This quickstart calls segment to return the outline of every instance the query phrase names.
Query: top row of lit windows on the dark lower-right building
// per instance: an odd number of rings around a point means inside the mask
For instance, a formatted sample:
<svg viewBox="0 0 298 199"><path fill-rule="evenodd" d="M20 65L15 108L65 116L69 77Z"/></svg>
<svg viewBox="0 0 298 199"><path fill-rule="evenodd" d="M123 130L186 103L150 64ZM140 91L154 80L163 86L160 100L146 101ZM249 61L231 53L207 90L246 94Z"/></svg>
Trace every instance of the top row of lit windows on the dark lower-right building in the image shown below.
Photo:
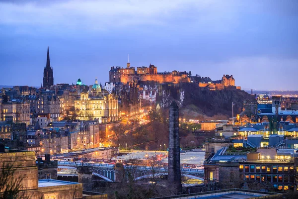
<svg viewBox="0 0 298 199"><path fill-rule="evenodd" d="M294 167L282 165L239 165L239 171L250 173L288 173L289 171L294 171Z"/></svg>

